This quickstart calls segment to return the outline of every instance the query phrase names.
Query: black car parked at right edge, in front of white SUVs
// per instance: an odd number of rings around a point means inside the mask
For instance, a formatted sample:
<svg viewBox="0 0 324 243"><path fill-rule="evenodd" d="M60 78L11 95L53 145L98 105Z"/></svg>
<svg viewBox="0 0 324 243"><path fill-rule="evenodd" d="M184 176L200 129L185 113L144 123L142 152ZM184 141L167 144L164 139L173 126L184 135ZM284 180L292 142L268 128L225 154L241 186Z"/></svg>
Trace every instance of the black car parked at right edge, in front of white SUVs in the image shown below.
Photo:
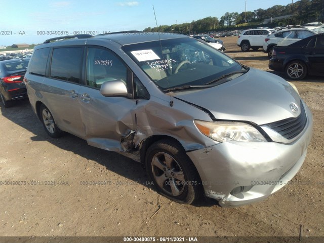
<svg viewBox="0 0 324 243"><path fill-rule="evenodd" d="M307 74L324 74L324 34L309 36L286 47L274 47L269 68L285 72L294 80Z"/></svg>

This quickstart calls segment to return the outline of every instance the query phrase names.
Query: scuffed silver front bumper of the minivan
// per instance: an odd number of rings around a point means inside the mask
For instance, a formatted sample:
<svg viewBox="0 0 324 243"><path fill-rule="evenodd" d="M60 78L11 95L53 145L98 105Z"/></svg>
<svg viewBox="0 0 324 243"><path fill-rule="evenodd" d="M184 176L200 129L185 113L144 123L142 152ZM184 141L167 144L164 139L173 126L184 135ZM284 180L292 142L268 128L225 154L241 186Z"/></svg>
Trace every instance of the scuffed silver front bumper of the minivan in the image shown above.
<svg viewBox="0 0 324 243"><path fill-rule="evenodd" d="M236 207L265 199L285 186L301 168L311 140L312 114L308 107L305 111L302 135L290 144L223 142L187 152L205 195L222 207Z"/></svg>

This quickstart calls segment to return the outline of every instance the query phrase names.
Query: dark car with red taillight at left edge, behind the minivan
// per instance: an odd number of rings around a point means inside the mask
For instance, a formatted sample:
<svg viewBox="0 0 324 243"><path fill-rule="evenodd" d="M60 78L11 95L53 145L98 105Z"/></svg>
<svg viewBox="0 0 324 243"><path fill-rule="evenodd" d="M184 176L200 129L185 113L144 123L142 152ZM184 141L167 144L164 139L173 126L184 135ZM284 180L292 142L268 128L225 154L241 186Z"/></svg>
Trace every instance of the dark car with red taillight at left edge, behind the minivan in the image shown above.
<svg viewBox="0 0 324 243"><path fill-rule="evenodd" d="M0 97L5 107L27 97L23 78L30 58L0 61Z"/></svg>

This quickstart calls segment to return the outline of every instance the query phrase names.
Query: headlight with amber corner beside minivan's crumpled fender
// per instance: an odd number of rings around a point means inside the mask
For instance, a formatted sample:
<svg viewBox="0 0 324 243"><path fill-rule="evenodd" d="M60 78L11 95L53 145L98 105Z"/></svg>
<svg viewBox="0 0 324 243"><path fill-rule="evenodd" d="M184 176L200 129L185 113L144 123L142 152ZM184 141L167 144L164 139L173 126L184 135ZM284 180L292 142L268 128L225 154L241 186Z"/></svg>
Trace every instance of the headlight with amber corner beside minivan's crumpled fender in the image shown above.
<svg viewBox="0 0 324 243"><path fill-rule="evenodd" d="M218 142L266 142L267 140L254 127L236 121L194 120L198 130Z"/></svg>

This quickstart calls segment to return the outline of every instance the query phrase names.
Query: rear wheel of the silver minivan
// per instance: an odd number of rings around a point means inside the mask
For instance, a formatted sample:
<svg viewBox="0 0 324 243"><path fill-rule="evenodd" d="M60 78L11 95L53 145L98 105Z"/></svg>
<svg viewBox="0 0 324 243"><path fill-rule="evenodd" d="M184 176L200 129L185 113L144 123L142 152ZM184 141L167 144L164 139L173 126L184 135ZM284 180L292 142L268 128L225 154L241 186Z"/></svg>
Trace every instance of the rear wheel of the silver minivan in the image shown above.
<svg viewBox="0 0 324 243"><path fill-rule="evenodd" d="M39 118L50 137L59 138L62 136L62 131L56 126L52 113L45 105L39 107Z"/></svg>

